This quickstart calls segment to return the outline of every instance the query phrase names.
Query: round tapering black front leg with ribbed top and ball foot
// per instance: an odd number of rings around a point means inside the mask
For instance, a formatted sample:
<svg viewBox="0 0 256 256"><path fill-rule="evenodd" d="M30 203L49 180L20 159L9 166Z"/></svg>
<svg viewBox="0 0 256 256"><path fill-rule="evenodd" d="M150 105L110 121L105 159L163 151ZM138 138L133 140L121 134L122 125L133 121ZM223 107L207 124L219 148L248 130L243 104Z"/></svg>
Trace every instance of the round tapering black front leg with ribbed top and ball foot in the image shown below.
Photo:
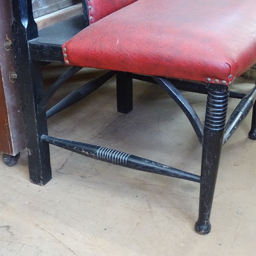
<svg viewBox="0 0 256 256"><path fill-rule="evenodd" d="M228 87L209 84L202 148L199 214L195 230L199 234L211 231L210 214L219 169L226 123Z"/></svg>

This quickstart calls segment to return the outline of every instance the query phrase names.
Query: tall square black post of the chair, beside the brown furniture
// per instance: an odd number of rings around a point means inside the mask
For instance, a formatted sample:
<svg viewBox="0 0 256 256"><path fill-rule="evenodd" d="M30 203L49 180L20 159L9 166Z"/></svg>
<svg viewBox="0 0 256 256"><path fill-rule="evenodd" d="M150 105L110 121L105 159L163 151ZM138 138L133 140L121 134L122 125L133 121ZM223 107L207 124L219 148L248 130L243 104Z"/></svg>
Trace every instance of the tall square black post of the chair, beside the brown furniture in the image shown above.
<svg viewBox="0 0 256 256"><path fill-rule="evenodd" d="M49 144L41 141L47 134L46 112L38 111L43 95L40 63L29 58L27 41L37 37L31 1L13 1L13 38L18 87L23 114L29 176L32 183L44 185L51 179Z"/></svg>

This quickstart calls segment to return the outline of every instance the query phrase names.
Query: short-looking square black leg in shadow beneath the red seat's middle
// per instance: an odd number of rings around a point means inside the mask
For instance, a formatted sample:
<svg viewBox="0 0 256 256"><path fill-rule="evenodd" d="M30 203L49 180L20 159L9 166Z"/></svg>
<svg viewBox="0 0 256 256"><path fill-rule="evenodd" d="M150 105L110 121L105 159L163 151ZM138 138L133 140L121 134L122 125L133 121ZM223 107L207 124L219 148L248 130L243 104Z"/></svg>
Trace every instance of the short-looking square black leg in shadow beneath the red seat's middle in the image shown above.
<svg viewBox="0 0 256 256"><path fill-rule="evenodd" d="M127 72L116 73L117 111L128 114L132 111L132 78Z"/></svg>

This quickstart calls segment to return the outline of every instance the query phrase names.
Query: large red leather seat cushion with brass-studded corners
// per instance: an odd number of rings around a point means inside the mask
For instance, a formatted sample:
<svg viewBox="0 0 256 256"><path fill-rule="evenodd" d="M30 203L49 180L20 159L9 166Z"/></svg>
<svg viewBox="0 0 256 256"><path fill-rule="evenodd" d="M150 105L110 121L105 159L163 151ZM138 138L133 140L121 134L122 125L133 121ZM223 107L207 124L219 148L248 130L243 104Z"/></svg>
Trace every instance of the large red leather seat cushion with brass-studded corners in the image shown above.
<svg viewBox="0 0 256 256"><path fill-rule="evenodd" d="M256 62L255 10L255 0L138 0L82 30L63 54L69 65L228 83Z"/></svg>

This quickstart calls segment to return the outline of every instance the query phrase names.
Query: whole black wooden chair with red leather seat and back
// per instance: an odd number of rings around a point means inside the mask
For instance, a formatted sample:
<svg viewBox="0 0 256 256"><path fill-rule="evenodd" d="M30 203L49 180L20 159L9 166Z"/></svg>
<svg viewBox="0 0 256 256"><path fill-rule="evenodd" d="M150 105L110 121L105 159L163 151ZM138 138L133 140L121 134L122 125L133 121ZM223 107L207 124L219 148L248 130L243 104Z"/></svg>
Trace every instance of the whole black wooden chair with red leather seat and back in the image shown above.
<svg viewBox="0 0 256 256"><path fill-rule="evenodd" d="M45 185L52 178L49 143L111 164L198 182L195 230L209 233L222 145L247 116L256 97L256 87L247 95L229 90L236 76L256 62L256 2L82 3L84 15L38 32L31 0L13 0L13 36L31 182ZM73 66L46 93L41 77L45 62ZM51 96L82 67L110 71L84 84L46 113ZM158 84L180 106L202 145L200 176L118 150L48 136L47 118L86 97L114 74L119 112L132 110L133 79ZM208 94L204 125L180 90ZM226 123L229 97L241 101ZM249 138L256 139L255 104Z"/></svg>

